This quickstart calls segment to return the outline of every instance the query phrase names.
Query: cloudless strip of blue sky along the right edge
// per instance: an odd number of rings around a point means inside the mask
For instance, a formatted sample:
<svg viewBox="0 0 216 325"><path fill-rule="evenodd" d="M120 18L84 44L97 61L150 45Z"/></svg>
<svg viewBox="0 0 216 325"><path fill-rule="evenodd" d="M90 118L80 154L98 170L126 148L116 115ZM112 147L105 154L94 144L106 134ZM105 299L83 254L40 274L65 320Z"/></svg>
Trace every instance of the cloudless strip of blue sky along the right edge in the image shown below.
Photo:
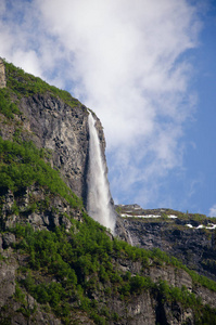
<svg viewBox="0 0 216 325"><path fill-rule="evenodd" d="M211 3L211 10L203 17L200 46L193 58L196 74L192 87L198 93L198 103L195 120L187 136L195 145L187 151L185 166L188 166L187 174L198 180L189 200L192 210L216 216L216 2Z"/></svg>

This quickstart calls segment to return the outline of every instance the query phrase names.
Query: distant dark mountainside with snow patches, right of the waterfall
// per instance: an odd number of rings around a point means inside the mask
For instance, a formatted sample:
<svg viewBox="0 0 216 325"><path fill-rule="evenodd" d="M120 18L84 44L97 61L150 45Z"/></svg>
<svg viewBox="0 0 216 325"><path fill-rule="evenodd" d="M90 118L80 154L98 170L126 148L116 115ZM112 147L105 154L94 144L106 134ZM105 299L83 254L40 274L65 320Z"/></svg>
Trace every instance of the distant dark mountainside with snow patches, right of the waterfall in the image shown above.
<svg viewBox="0 0 216 325"><path fill-rule="evenodd" d="M144 210L138 205L116 209L132 245L160 248L216 281L216 218L170 209Z"/></svg>

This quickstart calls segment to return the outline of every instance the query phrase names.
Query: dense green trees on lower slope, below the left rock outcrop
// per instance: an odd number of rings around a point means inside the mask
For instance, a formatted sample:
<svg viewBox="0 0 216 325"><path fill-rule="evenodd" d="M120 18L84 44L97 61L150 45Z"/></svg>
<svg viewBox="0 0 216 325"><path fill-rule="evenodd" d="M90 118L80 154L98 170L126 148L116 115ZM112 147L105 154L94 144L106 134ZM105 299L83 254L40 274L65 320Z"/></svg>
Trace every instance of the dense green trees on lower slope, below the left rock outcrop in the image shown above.
<svg viewBox="0 0 216 325"><path fill-rule="evenodd" d="M96 324L105 324L104 309L96 313L97 301L89 296L97 289L99 280L104 285L110 278L114 280L111 263L113 245L101 225L88 216L84 218L82 223L72 219L74 226L69 233L60 227L55 232L34 232L30 225L20 224L12 230L18 239L14 248L29 256L26 268L20 270L25 274L20 285L39 303L49 303L65 323L69 322L72 310L78 308L88 312ZM16 296L21 296L18 290Z"/></svg>

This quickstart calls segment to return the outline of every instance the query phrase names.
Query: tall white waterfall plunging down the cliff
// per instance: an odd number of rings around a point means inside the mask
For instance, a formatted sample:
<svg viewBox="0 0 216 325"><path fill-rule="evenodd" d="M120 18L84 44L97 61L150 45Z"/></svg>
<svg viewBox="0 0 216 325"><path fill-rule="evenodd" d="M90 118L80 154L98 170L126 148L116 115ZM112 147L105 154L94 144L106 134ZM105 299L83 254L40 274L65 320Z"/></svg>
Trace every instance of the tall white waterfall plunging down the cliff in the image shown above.
<svg viewBox="0 0 216 325"><path fill-rule="evenodd" d="M96 120L91 113L89 125L89 170L87 211L96 221L114 233L115 212L111 205L111 194L106 178L106 166L102 157L100 140L96 129Z"/></svg>

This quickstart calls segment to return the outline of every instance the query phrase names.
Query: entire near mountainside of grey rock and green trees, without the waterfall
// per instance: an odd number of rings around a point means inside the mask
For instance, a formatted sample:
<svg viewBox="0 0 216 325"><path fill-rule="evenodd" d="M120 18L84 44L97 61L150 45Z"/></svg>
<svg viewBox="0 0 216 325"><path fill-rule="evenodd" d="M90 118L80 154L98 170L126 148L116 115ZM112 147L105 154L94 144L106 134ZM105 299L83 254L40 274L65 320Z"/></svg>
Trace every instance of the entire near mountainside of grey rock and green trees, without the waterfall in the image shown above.
<svg viewBox="0 0 216 325"><path fill-rule="evenodd" d="M0 324L216 324L214 281L87 216L87 108L7 62L0 88Z"/></svg>

